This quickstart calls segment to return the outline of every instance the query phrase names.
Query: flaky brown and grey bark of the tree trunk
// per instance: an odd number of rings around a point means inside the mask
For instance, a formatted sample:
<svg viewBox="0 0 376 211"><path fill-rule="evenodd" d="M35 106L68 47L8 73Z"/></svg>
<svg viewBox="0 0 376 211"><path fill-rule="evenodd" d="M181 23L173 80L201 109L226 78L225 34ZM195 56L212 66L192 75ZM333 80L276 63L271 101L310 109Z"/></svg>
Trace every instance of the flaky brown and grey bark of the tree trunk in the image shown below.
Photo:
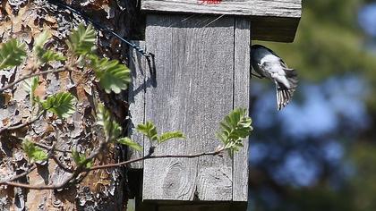
<svg viewBox="0 0 376 211"><path fill-rule="evenodd" d="M140 38L141 30L137 15L137 1L67 1L75 8L81 8L92 19L113 29L123 38ZM79 23L80 16L56 7L45 0L9 0L0 3L0 42L18 38L32 48L34 39L42 30L50 30L57 51L64 52L64 40ZM140 27L137 27L140 28ZM130 35L133 36L130 36ZM98 33L98 53L126 63L128 48L106 32ZM62 63L52 65L61 66ZM27 72L28 63L12 70L0 71L0 87L14 81ZM0 181L12 178L25 171L27 157L21 150L19 138L28 137L46 145L71 151L77 148L81 153L90 152L100 139L103 131L95 124L94 102L99 100L107 105L123 128L126 128L127 103L124 95L106 95L97 89L95 82L84 80L68 72L47 74L39 77L36 95L45 97L57 91L69 91L78 98L75 114L62 122L51 115L44 115L29 128L3 134L0 139ZM0 127L25 122L30 116L29 96L22 89L22 83L0 94ZM124 130L125 132L126 130ZM58 153L58 159L71 165L70 155ZM123 160L122 148L108 148L97 164L115 163ZM52 160L39 164L38 169L19 180L30 184L59 183L69 173L64 172ZM127 188L124 169L98 170L75 187L63 190L26 190L0 187L0 210L123 210Z"/></svg>

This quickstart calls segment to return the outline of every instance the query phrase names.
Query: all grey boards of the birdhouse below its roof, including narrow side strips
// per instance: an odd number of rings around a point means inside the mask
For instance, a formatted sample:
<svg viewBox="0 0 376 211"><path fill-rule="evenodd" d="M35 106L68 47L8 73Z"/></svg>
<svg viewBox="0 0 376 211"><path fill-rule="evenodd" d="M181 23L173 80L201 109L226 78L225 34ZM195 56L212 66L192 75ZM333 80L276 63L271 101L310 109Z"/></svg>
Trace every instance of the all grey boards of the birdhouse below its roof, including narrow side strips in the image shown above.
<svg viewBox="0 0 376 211"><path fill-rule="evenodd" d="M140 115L140 121L154 122L159 132L183 131L186 136L185 140L158 145L154 156L216 150L223 145L216 138L219 122L235 107L249 106L250 21L235 16L220 21L214 16L190 16L148 15L145 47L155 55L155 70L150 72L144 65L135 64L137 57L131 60L131 67L137 72L131 88L136 95L132 98L132 115ZM144 78L137 80L141 76ZM137 119L132 121L138 123ZM142 142L147 155L150 142L140 139ZM152 203L244 204L248 190L247 157L248 141L244 140L244 148L234 157L224 153L145 160L142 199Z"/></svg>

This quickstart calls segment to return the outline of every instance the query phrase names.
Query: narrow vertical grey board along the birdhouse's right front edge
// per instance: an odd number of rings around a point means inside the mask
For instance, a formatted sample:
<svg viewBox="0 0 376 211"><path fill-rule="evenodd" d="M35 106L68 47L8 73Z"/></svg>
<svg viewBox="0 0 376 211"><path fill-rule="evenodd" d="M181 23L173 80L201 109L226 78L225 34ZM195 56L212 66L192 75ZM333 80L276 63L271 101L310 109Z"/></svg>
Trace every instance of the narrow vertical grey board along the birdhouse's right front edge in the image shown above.
<svg viewBox="0 0 376 211"><path fill-rule="evenodd" d="M242 17L235 20L235 90L234 107L249 107L251 23ZM234 156L233 200L248 200L248 139Z"/></svg>

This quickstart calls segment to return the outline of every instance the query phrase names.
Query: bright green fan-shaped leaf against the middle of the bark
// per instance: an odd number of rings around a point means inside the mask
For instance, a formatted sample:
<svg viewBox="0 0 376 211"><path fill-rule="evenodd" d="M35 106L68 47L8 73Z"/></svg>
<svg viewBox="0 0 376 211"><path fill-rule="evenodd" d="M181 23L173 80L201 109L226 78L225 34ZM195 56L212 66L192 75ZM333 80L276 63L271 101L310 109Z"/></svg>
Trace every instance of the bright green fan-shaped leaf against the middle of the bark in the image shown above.
<svg viewBox="0 0 376 211"><path fill-rule="evenodd" d="M42 106L47 111L56 114L59 118L67 118L74 114L76 102L76 97L71 93L59 92L53 96L47 97L47 99L42 102Z"/></svg>

